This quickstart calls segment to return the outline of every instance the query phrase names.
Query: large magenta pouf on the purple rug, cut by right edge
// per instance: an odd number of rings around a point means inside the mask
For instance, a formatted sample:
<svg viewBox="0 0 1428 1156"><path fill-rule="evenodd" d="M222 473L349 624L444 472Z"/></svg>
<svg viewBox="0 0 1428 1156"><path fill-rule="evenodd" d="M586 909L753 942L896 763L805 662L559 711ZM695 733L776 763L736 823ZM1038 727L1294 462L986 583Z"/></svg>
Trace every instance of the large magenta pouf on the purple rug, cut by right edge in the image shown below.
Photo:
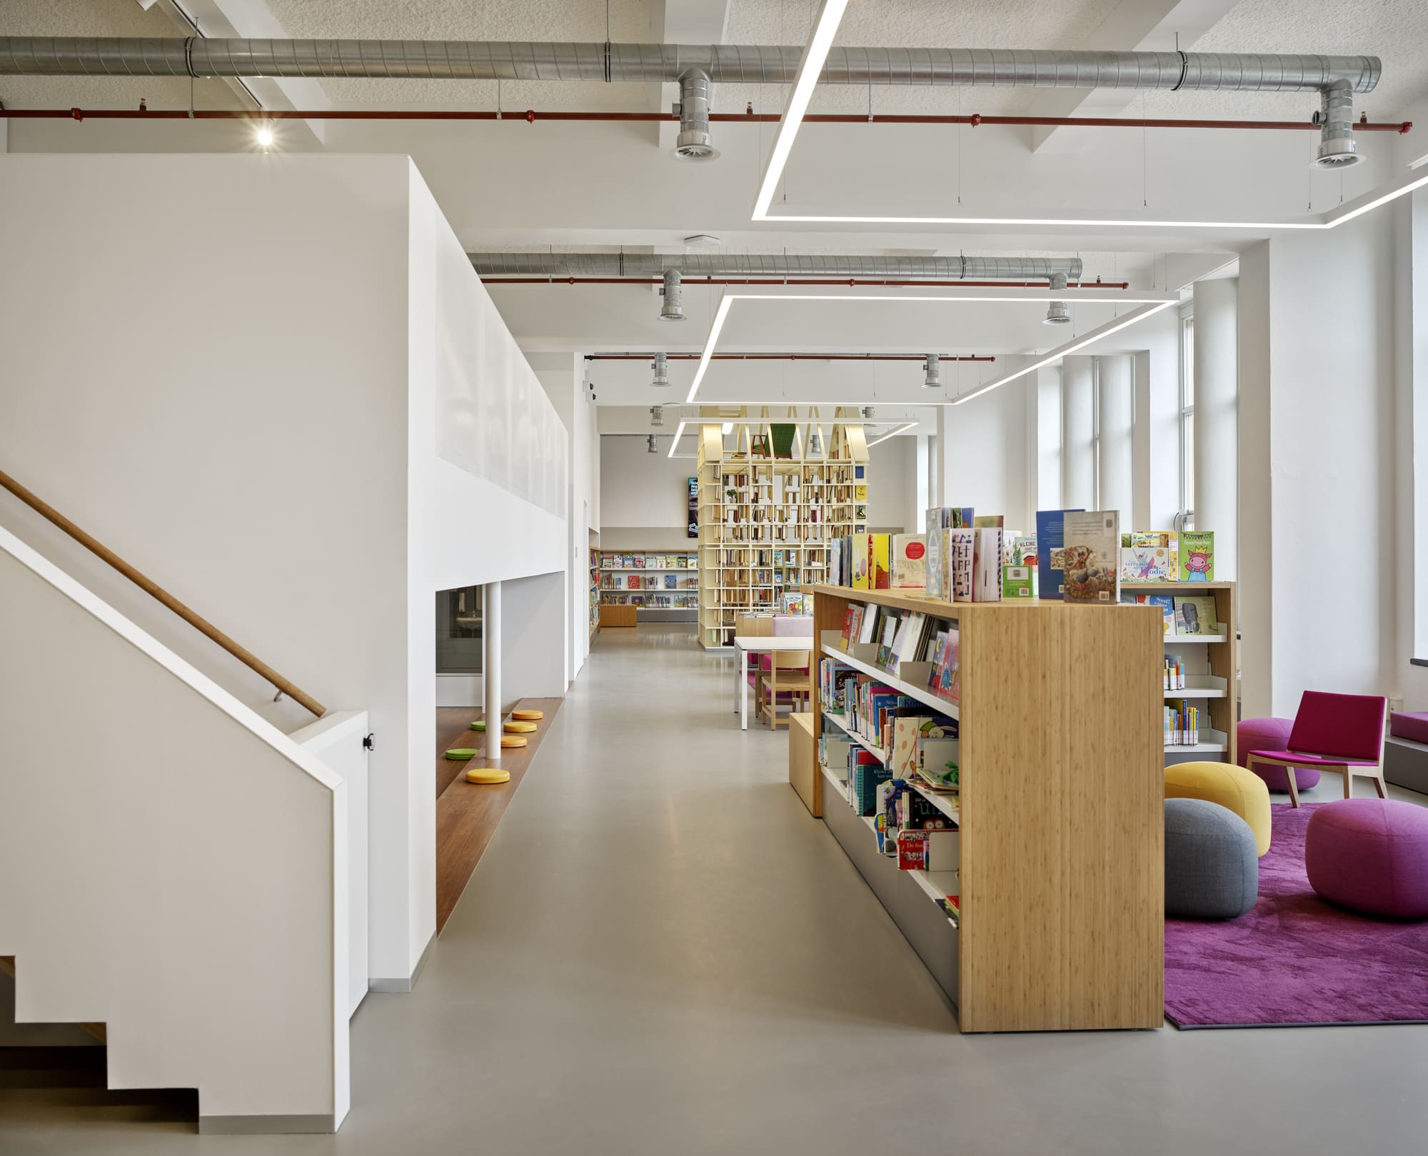
<svg viewBox="0 0 1428 1156"><path fill-rule="evenodd" d="M1309 886L1341 908L1389 919L1428 918L1428 808L1341 799L1304 833Z"/></svg>

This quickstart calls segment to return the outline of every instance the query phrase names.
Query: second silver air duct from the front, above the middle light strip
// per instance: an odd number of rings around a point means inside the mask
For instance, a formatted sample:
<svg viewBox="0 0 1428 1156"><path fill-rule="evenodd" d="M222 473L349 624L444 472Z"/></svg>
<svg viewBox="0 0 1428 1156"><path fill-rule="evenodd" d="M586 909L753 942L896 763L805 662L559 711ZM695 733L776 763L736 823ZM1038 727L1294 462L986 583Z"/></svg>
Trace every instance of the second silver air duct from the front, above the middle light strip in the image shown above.
<svg viewBox="0 0 1428 1156"><path fill-rule="evenodd" d="M881 277L895 281L1081 280L1080 257L840 257L743 253L473 253L483 277Z"/></svg>

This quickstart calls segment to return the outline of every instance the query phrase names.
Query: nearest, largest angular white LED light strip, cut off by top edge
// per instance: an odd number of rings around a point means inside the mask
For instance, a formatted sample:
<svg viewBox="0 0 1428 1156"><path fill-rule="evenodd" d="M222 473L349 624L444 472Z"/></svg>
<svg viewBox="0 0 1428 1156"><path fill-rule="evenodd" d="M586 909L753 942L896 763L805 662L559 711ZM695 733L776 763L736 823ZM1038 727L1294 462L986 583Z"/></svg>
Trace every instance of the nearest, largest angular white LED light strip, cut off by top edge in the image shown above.
<svg viewBox="0 0 1428 1156"><path fill-rule="evenodd" d="M1075 225L1075 227L1108 227L1108 228L1334 228L1337 225L1372 213L1379 206L1388 204L1405 193L1428 184L1428 177L1409 180L1389 188L1375 197L1372 191L1338 206L1331 213L1319 214L1318 220L1307 221L1135 221L1135 220L1097 220L1082 217L838 217L838 216L770 216L768 207L774 201L774 190L783 180L784 166L788 164L788 154L793 151L794 138L803 127L804 114L808 111L808 101L818 84L818 74L828 60L828 50L833 47L833 37L843 21L843 13L848 7L848 0L824 0L823 9L814 21L813 36L804 49L803 60L798 63L798 76L794 87L788 93L788 104L784 116L778 121L778 136L774 140L774 150L768 154L768 166L764 168L764 183L758 188L754 200L755 221L800 221L807 224L967 224L967 225ZM1424 163L1419 158L1414 168Z"/></svg>

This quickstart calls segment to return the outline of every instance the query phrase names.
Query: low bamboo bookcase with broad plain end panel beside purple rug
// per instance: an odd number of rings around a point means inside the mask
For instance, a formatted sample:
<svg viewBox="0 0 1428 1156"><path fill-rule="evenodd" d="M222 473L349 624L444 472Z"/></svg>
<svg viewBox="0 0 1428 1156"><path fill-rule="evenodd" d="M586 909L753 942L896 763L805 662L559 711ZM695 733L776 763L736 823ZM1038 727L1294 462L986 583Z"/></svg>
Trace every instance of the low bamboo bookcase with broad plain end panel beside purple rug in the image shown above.
<svg viewBox="0 0 1428 1156"><path fill-rule="evenodd" d="M957 1005L964 1032L1160 1028L1164 1023L1161 612L1057 601L942 602L908 591L815 585L820 656L875 675L957 719L958 918L940 872L898 871L818 764L790 779L858 865ZM850 602L955 622L960 694L927 689L925 664L888 676L841 649ZM911 664L908 664L911 665ZM830 716L828 726L837 726ZM803 748L807 751L807 745ZM805 755L807 758L807 755Z"/></svg>

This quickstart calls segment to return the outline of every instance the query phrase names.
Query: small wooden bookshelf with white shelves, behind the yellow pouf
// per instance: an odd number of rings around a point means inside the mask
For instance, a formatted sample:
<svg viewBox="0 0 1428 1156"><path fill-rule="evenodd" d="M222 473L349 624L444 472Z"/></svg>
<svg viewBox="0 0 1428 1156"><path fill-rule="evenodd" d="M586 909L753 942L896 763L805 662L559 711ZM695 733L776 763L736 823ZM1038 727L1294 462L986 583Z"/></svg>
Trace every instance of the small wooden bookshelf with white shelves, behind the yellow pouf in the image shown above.
<svg viewBox="0 0 1428 1156"><path fill-rule="evenodd" d="M1215 599L1218 634L1162 635L1164 654L1185 665L1185 689L1162 691L1164 698L1204 699L1208 726L1195 746L1161 744L1165 762L1238 762L1235 724L1240 706L1240 618L1234 582L1121 582L1122 594L1168 594ZM1160 665L1157 662L1157 665ZM1161 701L1164 704L1164 699Z"/></svg>

